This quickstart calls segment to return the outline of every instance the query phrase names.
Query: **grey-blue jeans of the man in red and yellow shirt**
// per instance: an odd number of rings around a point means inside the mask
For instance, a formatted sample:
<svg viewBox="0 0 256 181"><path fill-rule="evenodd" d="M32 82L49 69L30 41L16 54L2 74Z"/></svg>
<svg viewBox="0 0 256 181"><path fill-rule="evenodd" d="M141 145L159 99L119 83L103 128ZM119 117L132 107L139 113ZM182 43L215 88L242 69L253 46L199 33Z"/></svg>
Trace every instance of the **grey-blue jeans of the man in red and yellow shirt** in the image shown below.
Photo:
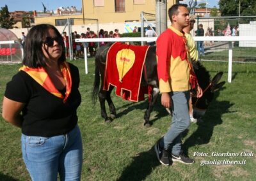
<svg viewBox="0 0 256 181"><path fill-rule="evenodd" d="M179 156L182 132L189 127L189 91L170 92L172 97L172 124L162 139L164 149L172 147L172 154Z"/></svg>

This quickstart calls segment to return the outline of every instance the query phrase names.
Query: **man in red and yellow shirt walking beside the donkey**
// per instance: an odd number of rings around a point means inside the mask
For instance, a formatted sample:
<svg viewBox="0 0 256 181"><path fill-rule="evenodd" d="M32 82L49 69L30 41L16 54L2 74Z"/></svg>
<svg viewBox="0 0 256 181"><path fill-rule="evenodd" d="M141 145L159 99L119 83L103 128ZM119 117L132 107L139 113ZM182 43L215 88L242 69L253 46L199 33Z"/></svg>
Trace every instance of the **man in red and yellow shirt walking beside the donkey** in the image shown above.
<svg viewBox="0 0 256 181"><path fill-rule="evenodd" d="M161 103L166 108L172 105L173 117L172 126L163 138L157 141L155 150L161 164L170 165L171 160L191 164L194 163L193 159L180 154L181 133L189 127L190 121L188 101L191 65L187 55L186 37L182 31L189 25L189 11L185 4L174 4L168 10L168 15L172 26L157 38L156 54ZM196 89L196 96L199 98L202 96L202 89L199 85Z"/></svg>

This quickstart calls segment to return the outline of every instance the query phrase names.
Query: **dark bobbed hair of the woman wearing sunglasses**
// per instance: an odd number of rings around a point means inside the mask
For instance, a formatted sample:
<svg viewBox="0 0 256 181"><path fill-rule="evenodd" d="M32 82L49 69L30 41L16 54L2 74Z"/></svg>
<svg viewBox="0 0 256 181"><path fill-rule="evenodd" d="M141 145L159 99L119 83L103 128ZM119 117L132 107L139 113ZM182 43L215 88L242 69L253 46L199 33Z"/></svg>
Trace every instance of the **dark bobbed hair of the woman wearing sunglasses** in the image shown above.
<svg viewBox="0 0 256 181"><path fill-rule="evenodd" d="M46 59L44 57L44 53L42 51L42 45L46 38L46 34L48 29L53 29L56 35L62 38L60 32L56 27L50 24L38 24L32 27L25 39L25 47L24 47L24 59L22 63L29 68L38 68L46 66ZM62 54L59 59L60 62L66 60L65 57L65 45L64 41L60 43L62 47Z"/></svg>

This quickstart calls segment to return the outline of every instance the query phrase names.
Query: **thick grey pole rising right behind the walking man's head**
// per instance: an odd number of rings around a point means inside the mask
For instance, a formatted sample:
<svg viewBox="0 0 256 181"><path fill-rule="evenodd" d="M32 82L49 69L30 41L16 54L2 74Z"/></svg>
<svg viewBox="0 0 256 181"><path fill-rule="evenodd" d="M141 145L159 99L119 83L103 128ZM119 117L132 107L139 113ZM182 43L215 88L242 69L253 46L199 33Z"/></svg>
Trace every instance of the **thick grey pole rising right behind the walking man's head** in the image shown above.
<svg viewBox="0 0 256 181"><path fill-rule="evenodd" d="M167 28L167 0L156 0L156 33L161 34Z"/></svg>

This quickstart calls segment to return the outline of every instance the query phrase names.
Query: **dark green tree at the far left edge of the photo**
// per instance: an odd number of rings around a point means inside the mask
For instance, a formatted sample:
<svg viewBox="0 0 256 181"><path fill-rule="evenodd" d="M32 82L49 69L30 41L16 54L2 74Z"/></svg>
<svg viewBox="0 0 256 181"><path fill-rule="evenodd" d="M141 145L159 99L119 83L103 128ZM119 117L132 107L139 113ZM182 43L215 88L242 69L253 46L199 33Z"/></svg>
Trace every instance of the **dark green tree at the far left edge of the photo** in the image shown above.
<svg viewBox="0 0 256 181"><path fill-rule="evenodd" d="M1 7L0 10L0 25L3 28L6 29L12 29L13 25L15 24L12 17L10 17L10 13L8 11L8 6L5 5L4 7Z"/></svg>

